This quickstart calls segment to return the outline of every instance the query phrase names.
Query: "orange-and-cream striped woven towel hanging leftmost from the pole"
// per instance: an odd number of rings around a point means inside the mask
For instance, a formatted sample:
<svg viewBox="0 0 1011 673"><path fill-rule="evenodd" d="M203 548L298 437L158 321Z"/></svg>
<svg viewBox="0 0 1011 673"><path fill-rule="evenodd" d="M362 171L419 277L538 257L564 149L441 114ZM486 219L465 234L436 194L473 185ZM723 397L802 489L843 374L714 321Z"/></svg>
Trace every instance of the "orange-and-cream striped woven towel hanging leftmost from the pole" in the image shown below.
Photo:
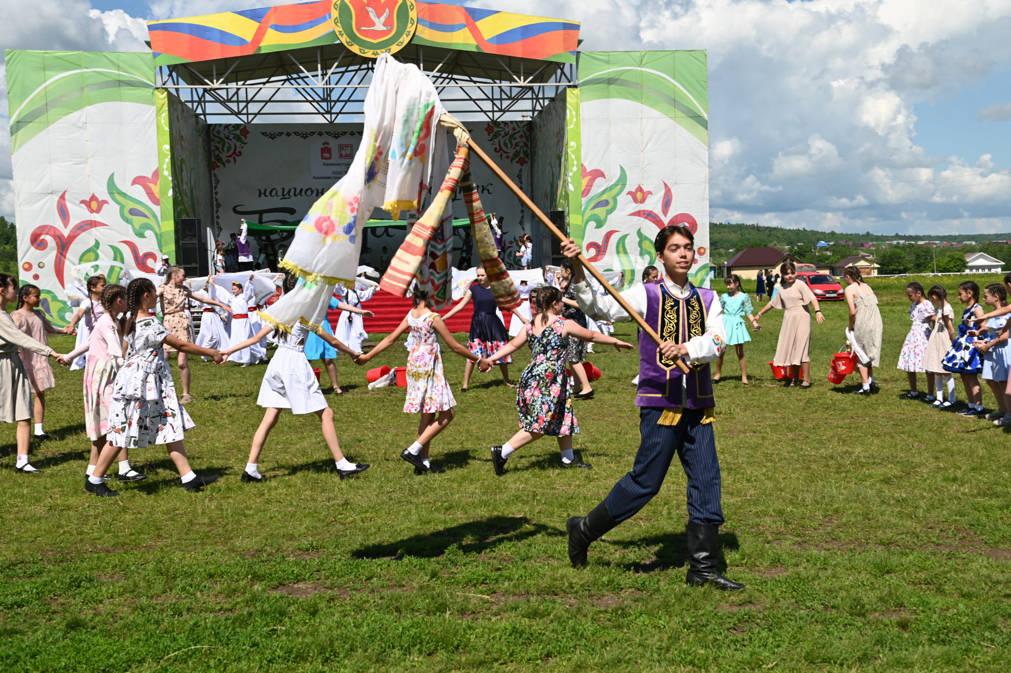
<svg viewBox="0 0 1011 673"><path fill-rule="evenodd" d="M465 145L457 149L442 187L421 219L407 232L379 281L379 287L386 292L398 297L406 296L407 288L417 276L419 286L433 298L432 308L446 306L451 284L448 253L453 242L453 212L447 206L460 187L460 177L470 168L469 154L470 150ZM426 264L427 258L433 257L432 263ZM438 305L440 296L442 301Z"/></svg>

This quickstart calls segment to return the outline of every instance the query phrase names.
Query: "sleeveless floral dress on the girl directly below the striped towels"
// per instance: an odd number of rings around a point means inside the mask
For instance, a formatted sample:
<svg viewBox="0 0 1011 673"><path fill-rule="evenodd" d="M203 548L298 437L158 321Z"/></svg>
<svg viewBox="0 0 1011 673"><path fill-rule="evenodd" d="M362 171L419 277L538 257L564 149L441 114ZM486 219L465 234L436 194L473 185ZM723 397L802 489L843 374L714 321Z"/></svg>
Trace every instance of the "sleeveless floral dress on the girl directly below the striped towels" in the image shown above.
<svg viewBox="0 0 1011 673"><path fill-rule="evenodd" d="M453 392L443 374L439 334L432 328L438 317L429 313L416 318L407 313L410 325L410 354L407 356L407 399L404 413L435 413L456 406Z"/></svg>

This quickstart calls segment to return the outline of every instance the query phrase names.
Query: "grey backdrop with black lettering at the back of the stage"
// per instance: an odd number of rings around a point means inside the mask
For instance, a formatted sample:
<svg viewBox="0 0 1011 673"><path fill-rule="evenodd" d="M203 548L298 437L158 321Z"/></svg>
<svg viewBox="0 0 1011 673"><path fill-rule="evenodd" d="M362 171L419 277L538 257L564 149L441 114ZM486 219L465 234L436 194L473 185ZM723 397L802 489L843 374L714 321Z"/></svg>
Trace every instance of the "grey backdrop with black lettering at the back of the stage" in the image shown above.
<svg viewBox="0 0 1011 673"><path fill-rule="evenodd" d="M468 129L518 185L529 186L530 125L486 121L471 122ZM301 219L348 172L362 140L361 124L210 124L209 130L214 211L222 242L239 231L243 217L262 224ZM504 219L502 261L511 269L519 268L517 239L534 226L530 213L482 163L474 162L471 173L485 211ZM466 217L459 193L452 207L454 217ZM369 230L370 250L363 249L362 263L378 268L382 249L392 258L404 233ZM475 248L475 262L476 252ZM470 261L464 264L470 266Z"/></svg>

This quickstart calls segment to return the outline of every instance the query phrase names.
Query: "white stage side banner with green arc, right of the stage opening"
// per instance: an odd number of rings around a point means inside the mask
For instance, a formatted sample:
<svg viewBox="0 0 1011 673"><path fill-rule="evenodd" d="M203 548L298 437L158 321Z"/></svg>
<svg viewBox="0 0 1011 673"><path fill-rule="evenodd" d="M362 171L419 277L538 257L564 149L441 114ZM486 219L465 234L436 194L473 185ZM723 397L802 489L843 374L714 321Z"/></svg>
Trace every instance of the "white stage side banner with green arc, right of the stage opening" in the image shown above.
<svg viewBox="0 0 1011 673"><path fill-rule="evenodd" d="M669 224L695 232L692 282L709 276L706 52L583 52L581 211L569 230L602 270L638 281Z"/></svg>

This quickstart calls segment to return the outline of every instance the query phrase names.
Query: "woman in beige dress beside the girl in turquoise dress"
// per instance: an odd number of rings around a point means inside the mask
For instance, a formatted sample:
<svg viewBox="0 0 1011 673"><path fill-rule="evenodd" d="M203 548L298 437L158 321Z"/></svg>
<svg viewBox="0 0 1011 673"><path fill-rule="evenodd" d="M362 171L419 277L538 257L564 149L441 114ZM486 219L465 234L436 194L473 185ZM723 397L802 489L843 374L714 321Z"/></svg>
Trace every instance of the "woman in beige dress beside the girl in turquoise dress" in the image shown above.
<svg viewBox="0 0 1011 673"><path fill-rule="evenodd" d="M811 387L811 358L808 350L811 347L811 312L808 304L815 307L815 315L818 324L825 321L821 308L818 307L818 298L815 297L807 283L797 280L797 267L792 262L784 262L779 266L779 291L775 298L762 306L755 315L757 323L763 313L772 308L784 309L783 326L779 328L779 342L775 347L775 357L772 364L776 367L800 366L801 376L804 382L801 388ZM786 386L795 385L795 382L788 376Z"/></svg>

